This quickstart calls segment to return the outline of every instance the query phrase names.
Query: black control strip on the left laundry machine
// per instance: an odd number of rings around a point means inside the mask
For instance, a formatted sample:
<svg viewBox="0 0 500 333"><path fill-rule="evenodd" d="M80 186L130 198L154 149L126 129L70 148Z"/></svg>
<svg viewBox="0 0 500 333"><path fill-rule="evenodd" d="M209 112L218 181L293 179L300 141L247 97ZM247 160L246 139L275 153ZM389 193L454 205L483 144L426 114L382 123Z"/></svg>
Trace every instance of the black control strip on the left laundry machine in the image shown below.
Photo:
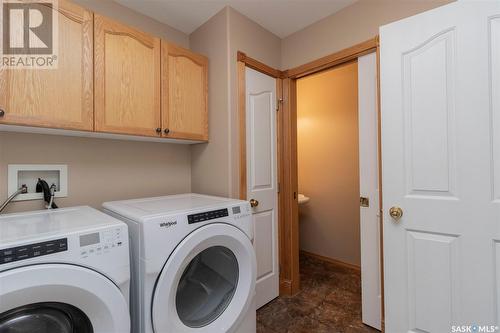
<svg viewBox="0 0 500 333"><path fill-rule="evenodd" d="M67 238L11 247L0 250L0 265L64 251L68 251Z"/></svg>

